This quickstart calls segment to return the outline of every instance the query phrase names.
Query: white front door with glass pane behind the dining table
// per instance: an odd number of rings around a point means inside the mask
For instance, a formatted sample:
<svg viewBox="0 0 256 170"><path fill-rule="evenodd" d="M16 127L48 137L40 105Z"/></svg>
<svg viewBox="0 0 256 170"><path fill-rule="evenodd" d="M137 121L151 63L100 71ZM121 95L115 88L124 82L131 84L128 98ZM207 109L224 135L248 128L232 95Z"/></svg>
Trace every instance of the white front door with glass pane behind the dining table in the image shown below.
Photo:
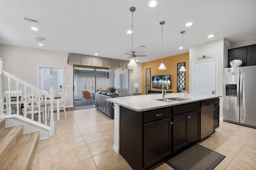
<svg viewBox="0 0 256 170"><path fill-rule="evenodd" d="M48 93L53 87L54 95L63 97L64 91L64 71L63 68L38 67L38 83L37 86L41 90Z"/></svg>

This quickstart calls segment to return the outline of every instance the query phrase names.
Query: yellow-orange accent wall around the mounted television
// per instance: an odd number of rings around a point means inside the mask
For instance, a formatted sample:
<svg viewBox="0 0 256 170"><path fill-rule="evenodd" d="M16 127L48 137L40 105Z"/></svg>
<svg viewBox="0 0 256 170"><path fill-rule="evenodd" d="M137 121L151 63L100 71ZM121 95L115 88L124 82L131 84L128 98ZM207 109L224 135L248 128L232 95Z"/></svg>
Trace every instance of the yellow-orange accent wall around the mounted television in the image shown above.
<svg viewBox="0 0 256 170"><path fill-rule="evenodd" d="M142 94L146 94L146 68L150 68L150 89L151 90L162 90L152 88L152 75L171 75L171 88L164 89L166 91L172 91L172 93L177 93L177 63L182 63L182 54L173 55L170 57L163 58L164 66L166 69L159 70L158 67L162 59L156 59L153 61L148 61L142 63ZM189 90L189 53L183 54L183 62L186 62L186 72L185 72L185 89Z"/></svg>

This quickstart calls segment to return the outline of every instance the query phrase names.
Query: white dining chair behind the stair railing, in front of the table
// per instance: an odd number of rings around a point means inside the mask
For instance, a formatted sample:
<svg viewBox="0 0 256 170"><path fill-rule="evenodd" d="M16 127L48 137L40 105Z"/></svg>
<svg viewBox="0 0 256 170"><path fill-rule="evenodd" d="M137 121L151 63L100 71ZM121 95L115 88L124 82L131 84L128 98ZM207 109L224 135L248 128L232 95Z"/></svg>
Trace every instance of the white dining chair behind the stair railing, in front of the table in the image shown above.
<svg viewBox="0 0 256 170"><path fill-rule="evenodd" d="M39 117L39 108L40 108L40 113L42 113L43 121L44 121L44 110L46 109L44 105L44 97L43 95L39 96L38 94L39 93L27 93L26 99L24 95L20 97L20 101L24 104L24 108L21 109L21 113L24 115L25 107L26 107L27 115L32 116L32 114L38 113L38 117ZM32 99L33 99L33 103L32 103ZM40 107L39 107L39 103L40 103Z"/></svg>

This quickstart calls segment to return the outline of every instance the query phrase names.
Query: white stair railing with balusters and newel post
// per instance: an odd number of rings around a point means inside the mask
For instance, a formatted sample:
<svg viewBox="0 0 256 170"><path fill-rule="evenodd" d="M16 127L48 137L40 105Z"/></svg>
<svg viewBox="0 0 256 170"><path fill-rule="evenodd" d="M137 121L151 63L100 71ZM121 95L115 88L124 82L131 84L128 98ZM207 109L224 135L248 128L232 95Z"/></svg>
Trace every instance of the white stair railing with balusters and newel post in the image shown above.
<svg viewBox="0 0 256 170"><path fill-rule="evenodd" d="M3 77L4 75L4 77ZM2 81L2 79L8 81ZM8 84L7 84L8 83ZM2 87L7 87L5 93L2 93ZM12 90L11 90L12 89ZM15 89L15 90L14 90ZM16 96L12 94L16 92ZM21 95L20 95L21 93ZM5 97L5 99L4 99ZM15 99L16 101L13 101ZM14 105L12 105L14 103ZM15 105L16 103L16 105ZM50 89L50 94L47 91L40 90L37 87L19 79L18 77L3 70L3 61L0 57L0 118L22 116L24 120L31 123L40 124L50 129L50 136L54 135L54 116L51 114L50 123L47 122L47 105L51 107L53 113L54 89ZM12 107L16 106L16 112L12 111ZM24 108L22 108L24 107ZM35 121L34 113L38 113L38 119ZM41 121L41 113L43 115ZM31 115L31 117L30 117Z"/></svg>

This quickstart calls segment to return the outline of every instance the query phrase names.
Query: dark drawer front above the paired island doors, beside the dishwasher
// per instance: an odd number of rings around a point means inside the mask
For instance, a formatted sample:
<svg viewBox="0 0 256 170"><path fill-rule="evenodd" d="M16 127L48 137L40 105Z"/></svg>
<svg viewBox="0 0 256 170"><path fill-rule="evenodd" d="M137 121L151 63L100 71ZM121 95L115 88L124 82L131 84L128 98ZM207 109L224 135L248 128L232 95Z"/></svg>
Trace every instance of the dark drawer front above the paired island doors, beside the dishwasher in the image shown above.
<svg viewBox="0 0 256 170"><path fill-rule="evenodd" d="M173 107L173 115L179 115L182 113L187 113L187 112L191 112L191 111L195 111L200 109L200 103L190 103L190 104L186 104L186 105L180 105L180 106L175 106Z"/></svg>

